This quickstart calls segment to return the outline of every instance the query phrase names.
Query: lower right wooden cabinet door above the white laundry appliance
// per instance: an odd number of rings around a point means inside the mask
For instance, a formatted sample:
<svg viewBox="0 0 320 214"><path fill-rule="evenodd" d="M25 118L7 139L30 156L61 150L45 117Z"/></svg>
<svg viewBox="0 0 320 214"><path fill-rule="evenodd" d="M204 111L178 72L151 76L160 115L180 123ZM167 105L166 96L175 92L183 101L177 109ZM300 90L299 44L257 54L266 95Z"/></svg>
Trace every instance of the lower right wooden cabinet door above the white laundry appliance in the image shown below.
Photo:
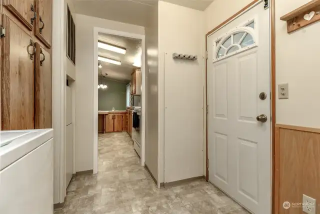
<svg viewBox="0 0 320 214"><path fill-rule="evenodd" d="M52 127L52 74L50 53L35 43L34 128Z"/></svg>

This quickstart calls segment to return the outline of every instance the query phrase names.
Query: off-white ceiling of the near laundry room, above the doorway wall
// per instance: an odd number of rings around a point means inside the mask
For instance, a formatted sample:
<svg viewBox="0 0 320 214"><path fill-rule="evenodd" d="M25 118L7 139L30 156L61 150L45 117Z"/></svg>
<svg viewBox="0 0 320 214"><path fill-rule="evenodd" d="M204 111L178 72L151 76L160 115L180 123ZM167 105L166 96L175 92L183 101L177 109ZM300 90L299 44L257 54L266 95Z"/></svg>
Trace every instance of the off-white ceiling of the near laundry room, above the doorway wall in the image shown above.
<svg viewBox="0 0 320 214"><path fill-rule="evenodd" d="M163 1L204 10L213 0ZM157 0L73 0L73 2L76 13L145 26L150 6Z"/></svg>

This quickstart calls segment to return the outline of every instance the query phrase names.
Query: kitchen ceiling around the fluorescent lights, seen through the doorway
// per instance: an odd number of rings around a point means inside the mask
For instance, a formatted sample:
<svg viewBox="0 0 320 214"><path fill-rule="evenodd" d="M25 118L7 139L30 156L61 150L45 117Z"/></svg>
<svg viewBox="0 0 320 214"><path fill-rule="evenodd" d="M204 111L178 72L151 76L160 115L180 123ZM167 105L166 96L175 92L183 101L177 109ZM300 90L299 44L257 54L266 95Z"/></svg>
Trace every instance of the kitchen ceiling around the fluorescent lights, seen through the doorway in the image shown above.
<svg viewBox="0 0 320 214"><path fill-rule="evenodd" d="M98 55L121 61L121 65L101 61L102 68L99 68L99 76L101 71L103 75L107 73L108 79L129 82L133 69L137 68L132 64L141 52L141 39L99 33L98 40L126 48L125 54L98 48Z"/></svg>

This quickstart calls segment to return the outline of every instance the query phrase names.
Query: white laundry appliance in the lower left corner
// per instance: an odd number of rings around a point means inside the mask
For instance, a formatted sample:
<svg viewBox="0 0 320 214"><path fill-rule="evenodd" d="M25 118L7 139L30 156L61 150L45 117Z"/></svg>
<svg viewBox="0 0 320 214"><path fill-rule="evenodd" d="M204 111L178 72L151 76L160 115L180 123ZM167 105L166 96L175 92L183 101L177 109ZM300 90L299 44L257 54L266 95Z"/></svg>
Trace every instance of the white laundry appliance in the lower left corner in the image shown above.
<svg viewBox="0 0 320 214"><path fill-rule="evenodd" d="M0 132L0 213L53 213L53 129Z"/></svg>

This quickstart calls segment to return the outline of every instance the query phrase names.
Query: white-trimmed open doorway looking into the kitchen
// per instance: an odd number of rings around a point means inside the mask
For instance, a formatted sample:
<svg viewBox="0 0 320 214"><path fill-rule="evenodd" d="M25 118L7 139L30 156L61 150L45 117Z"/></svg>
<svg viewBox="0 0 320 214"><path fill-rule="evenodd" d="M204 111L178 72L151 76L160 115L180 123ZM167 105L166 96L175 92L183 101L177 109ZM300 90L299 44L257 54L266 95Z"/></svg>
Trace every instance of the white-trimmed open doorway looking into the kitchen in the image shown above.
<svg viewBox="0 0 320 214"><path fill-rule="evenodd" d="M144 42L144 35L93 28L93 173L108 146L119 158L134 154L144 166Z"/></svg>

